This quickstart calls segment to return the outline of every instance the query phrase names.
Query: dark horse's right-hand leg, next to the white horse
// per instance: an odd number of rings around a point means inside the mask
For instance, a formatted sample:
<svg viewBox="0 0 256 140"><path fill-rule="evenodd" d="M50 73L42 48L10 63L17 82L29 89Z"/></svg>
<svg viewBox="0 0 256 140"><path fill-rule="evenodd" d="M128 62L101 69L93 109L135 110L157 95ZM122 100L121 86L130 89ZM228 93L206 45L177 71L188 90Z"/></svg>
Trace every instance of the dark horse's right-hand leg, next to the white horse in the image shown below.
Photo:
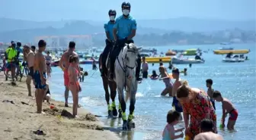
<svg viewBox="0 0 256 140"><path fill-rule="evenodd" d="M116 82L111 82L109 81L109 87L110 87L110 98L112 100L112 114L114 117L117 117L117 107L116 107L116 102L115 98L117 96L117 84Z"/></svg>

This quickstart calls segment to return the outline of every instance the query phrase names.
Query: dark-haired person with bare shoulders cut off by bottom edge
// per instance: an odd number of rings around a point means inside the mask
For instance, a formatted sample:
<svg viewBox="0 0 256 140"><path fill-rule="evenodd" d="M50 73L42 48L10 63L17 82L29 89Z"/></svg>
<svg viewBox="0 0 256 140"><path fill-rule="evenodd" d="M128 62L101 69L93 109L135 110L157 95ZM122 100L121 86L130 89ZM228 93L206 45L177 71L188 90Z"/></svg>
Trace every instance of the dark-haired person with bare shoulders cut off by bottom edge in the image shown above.
<svg viewBox="0 0 256 140"><path fill-rule="evenodd" d="M223 140L222 136L213 132L213 120L202 120L200 123L200 133L194 140Z"/></svg>

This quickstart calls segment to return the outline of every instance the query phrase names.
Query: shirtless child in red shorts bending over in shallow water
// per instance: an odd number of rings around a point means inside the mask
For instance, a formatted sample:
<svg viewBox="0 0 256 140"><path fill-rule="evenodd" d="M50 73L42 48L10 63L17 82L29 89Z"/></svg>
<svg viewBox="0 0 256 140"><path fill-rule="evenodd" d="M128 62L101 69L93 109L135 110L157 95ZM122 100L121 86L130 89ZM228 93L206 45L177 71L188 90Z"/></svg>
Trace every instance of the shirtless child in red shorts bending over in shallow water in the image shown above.
<svg viewBox="0 0 256 140"><path fill-rule="evenodd" d="M219 91L213 92L213 99L218 102L222 102L222 128L225 127L226 114L229 114L227 127L229 130L234 130L235 121L238 118L238 110L235 109L231 101L229 101L227 98L222 98L222 95Z"/></svg>

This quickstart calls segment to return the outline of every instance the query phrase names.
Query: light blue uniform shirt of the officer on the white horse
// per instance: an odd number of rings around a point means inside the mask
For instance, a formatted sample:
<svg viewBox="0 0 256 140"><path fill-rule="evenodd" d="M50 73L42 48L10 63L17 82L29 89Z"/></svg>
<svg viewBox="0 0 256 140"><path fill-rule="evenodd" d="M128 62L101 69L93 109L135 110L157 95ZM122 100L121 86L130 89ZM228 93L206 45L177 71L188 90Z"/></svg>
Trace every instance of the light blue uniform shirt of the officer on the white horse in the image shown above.
<svg viewBox="0 0 256 140"><path fill-rule="evenodd" d="M114 24L114 29L117 29L117 38L118 39L125 39L126 37L130 36L132 30L137 29L136 20L129 16L127 18L121 15L117 17L116 23Z"/></svg>

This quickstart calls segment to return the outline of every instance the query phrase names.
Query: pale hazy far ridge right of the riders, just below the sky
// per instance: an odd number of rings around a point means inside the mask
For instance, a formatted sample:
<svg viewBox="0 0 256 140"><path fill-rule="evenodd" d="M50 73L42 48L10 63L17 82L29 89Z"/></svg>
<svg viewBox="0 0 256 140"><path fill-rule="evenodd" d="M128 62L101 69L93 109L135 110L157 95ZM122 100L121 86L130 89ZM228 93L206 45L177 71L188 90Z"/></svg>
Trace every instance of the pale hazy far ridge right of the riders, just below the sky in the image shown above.
<svg viewBox="0 0 256 140"><path fill-rule="evenodd" d="M256 30L256 20L230 21L180 17L167 20L138 20L138 24L143 27L152 27L162 30L182 30L184 32L211 32L235 28L241 30Z"/></svg>

